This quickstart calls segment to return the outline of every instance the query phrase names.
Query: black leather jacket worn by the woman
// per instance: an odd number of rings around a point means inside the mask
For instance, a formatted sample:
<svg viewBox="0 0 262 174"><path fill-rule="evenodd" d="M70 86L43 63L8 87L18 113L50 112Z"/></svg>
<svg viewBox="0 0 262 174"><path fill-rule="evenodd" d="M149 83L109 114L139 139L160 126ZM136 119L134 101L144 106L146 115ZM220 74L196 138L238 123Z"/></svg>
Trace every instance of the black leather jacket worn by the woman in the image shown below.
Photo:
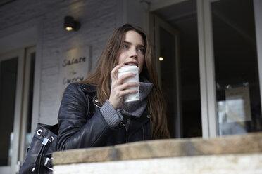
<svg viewBox="0 0 262 174"><path fill-rule="evenodd" d="M116 128L111 128L102 116L96 98L96 86L71 83L66 88L58 112L58 150L151 139L147 111L139 119L124 117Z"/></svg>

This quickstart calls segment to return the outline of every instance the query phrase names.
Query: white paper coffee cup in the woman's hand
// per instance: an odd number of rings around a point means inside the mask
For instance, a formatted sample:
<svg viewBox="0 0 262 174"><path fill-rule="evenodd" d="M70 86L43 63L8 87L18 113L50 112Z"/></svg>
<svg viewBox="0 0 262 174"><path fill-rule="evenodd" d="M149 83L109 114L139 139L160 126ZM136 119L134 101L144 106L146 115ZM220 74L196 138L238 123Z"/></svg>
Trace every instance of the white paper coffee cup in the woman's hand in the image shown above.
<svg viewBox="0 0 262 174"><path fill-rule="evenodd" d="M127 74L127 73L130 73L130 72L135 73L136 76L132 76L128 79L125 79L124 83L126 83L126 82L137 82L137 83L139 83L139 67L137 67L137 66L121 67L120 69L118 69L118 78L120 76L122 76L123 74ZM124 95L123 101L124 102L132 102L132 101L139 100L139 86L132 86L128 89L134 89L134 90L137 90L138 92Z"/></svg>

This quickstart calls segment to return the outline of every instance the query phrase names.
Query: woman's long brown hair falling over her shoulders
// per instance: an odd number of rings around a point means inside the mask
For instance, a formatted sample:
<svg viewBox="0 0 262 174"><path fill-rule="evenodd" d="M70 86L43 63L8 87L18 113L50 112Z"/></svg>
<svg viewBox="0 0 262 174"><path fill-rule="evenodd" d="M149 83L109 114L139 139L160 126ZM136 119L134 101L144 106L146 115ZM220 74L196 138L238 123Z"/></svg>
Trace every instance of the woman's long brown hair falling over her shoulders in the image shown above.
<svg viewBox="0 0 262 174"><path fill-rule="evenodd" d="M154 57L151 51L151 44L146 32L140 27L135 27L129 24L123 25L113 32L110 39L108 39L104 51L96 63L96 67L91 74L83 82L92 83L97 86L97 97L101 104L106 102L110 96L110 72L118 64L118 55L123 45L125 33L128 31L135 31L139 33L144 39L145 53L144 53L144 67L141 74L146 76L153 88L148 98L148 111L151 114L151 137L170 138L166 120L166 102L158 85L158 77L156 68L154 66Z"/></svg>

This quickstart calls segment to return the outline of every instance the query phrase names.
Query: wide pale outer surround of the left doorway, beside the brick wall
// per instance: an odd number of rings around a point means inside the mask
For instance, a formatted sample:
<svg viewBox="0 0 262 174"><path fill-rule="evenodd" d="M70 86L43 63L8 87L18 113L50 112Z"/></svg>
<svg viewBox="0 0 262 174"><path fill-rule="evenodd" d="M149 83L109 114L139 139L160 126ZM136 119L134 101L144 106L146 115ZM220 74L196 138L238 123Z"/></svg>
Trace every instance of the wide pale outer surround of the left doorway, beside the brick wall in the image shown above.
<svg viewBox="0 0 262 174"><path fill-rule="evenodd" d="M2 29L0 36L0 54L8 53L9 51L14 51L18 48L28 48L30 46L36 46L31 135L34 133L39 121L43 29L44 17L39 16L39 18L35 18L34 20L23 22L18 25L13 25L11 28ZM20 152L19 154L21 153L23 152ZM23 157L20 156L18 157L18 161L15 161L17 165L14 167L12 174L15 173L15 170L19 170L20 165L23 162L22 158Z"/></svg>

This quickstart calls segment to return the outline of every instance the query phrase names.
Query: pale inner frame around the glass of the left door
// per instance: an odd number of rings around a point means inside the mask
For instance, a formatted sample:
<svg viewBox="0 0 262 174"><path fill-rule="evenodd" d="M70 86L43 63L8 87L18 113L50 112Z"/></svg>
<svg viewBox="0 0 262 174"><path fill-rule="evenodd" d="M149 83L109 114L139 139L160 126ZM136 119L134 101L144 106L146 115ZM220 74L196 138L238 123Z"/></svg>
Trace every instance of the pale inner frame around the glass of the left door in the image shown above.
<svg viewBox="0 0 262 174"><path fill-rule="evenodd" d="M0 55L0 60L18 58L18 71L15 87L15 108L13 121L13 144L11 147L12 158L10 166L0 166L1 173L16 173L20 164L25 159L29 85L30 85L30 67L31 53L35 53L35 46L30 48L20 48ZM31 123L30 123L31 124ZM32 135L32 133L31 133Z"/></svg>

